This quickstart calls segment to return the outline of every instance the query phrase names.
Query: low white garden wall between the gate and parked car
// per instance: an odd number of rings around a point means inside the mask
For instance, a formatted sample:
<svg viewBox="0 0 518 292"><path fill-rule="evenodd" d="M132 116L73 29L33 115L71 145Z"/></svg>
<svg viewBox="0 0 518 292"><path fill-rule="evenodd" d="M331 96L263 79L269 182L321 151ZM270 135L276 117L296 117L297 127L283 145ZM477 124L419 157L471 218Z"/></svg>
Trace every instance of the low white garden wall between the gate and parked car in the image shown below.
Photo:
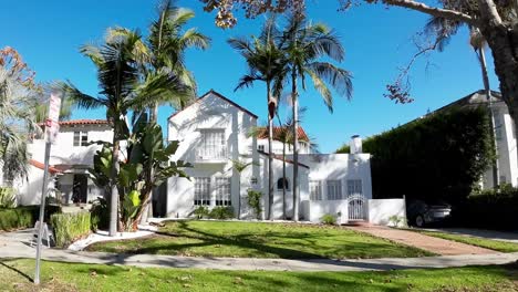
<svg viewBox="0 0 518 292"><path fill-rule="evenodd" d="M369 222L388 226L392 216L403 217L406 222L406 205L404 199L370 199L367 201Z"/></svg>

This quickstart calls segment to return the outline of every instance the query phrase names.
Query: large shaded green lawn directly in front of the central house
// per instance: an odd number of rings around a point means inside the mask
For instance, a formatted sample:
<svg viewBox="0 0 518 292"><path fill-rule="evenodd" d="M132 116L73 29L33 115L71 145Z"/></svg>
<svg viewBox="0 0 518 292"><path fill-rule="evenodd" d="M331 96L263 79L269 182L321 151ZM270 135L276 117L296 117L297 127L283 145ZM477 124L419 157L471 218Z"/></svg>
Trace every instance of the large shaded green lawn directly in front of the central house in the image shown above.
<svg viewBox="0 0 518 292"><path fill-rule="evenodd" d="M170 221L159 234L101 242L87 250L284 259L431 255L419 249L338 227L228 221Z"/></svg>

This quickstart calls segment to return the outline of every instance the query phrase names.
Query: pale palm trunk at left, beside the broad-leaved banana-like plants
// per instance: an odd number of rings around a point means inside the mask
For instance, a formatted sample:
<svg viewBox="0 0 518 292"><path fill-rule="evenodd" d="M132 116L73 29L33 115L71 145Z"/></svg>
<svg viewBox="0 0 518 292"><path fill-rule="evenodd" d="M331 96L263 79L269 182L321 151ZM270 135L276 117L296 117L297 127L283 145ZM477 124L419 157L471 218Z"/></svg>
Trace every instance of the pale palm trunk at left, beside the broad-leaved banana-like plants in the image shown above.
<svg viewBox="0 0 518 292"><path fill-rule="evenodd" d="M118 153L121 147L121 142L118 140L116 132L116 126L114 127L113 135L113 148L112 148L112 174L110 178L111 184L111 194L110 194L110 230L108 233L111 237L117 234L118 226L118 188L117 188L117 174L118 174Z"/></svg>

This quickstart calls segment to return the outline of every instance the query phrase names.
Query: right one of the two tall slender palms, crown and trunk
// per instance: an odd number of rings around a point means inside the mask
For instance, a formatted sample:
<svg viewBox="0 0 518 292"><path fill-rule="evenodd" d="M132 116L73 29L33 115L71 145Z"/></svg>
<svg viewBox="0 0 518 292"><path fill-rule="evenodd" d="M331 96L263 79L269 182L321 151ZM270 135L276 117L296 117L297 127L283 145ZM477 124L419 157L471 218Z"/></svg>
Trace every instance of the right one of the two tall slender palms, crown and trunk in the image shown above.
<svg viewBox="0 0 518 292"><path fill-rule="evenodd" d="M328 84L339 95L351 98L351 74L329 62L319 61L329 58L341 62L344 49L338 36L322 23L309 23L302 13L293 13L283 31L282 49L286 51L291 72L291 98L293 105L293 219L299 220L299 87L305 91L305 77L309 76L314 88L322 96L329 111L333 111L333 100Z"/></svg>

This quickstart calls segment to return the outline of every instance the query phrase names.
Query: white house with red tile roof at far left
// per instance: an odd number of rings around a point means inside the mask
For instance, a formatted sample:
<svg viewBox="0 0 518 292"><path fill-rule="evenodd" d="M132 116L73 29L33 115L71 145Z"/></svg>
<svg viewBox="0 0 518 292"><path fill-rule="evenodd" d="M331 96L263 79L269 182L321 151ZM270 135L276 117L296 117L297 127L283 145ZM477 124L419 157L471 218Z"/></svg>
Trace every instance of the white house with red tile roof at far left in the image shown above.
<svg viewBox="0 0 518 292"><path fill-rule="evenodd" d="M64 204L86 204L104 195L90 179L87 169L93 166L93 156L101 148L94 142L112 139L113 131L106 121L60 122L56 142L51 147L52 179L49 188L59 190ZM29 176L27 180L17 181L15 186L21 205L35 205L41 198L45 142L35 138L28 147L31 154Z"/></svg>

